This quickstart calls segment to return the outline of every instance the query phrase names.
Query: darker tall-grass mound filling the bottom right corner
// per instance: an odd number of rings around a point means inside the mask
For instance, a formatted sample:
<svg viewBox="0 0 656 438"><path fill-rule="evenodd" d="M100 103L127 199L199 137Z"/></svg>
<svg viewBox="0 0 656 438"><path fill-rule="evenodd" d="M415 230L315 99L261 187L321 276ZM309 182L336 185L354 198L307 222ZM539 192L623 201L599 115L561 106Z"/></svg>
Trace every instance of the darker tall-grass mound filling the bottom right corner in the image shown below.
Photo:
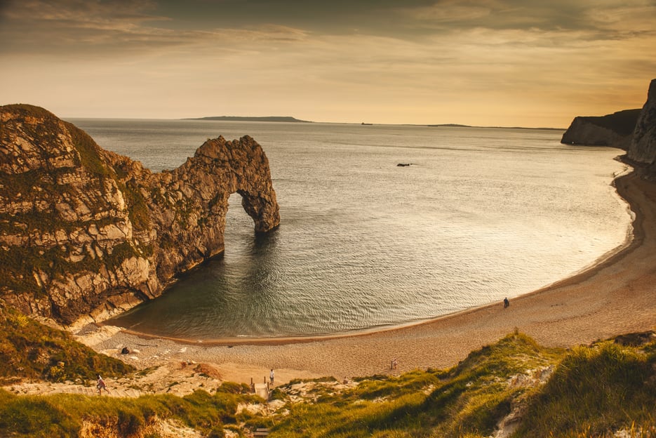
<svg viewBox="0 0 656 438"><path fill-rule="evenodd" d="M577 347L563 358L544 390L535 394L516 436L527 431L534 437L603 436L636 424L654 427L655 370L653 342L644 350L610 341Z"/></svg>

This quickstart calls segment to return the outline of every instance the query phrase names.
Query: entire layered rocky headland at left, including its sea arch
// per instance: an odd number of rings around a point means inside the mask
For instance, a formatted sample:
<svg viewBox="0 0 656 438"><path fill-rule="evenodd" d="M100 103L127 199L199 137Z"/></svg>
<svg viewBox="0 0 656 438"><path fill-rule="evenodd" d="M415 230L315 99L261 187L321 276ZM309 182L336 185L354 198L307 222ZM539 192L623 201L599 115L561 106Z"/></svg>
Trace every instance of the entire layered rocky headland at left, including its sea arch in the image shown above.
<svg viewBox="0 0 656 438"><path fill-rule="evenodd" d="M279 225L269 161L248 136L152 173L42 108L0 107L0 296L67 325L159 296L222 253L234 192L255 232Z"/></svg>

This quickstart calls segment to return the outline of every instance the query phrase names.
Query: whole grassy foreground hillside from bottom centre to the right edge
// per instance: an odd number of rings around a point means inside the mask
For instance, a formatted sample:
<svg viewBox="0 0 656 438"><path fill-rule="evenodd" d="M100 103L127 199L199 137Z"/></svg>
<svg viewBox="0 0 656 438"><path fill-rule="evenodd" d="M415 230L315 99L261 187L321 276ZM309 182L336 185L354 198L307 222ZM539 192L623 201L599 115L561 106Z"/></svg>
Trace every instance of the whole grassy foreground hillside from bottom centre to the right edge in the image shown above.
<svg viewBox="0 0 656 438"><path fill-rule="evenodd" d="M450 370L373 376L290 402L270 436L481 438L519 408L526 413L513 437L656 437L655 345L608 341L565 352L515 332ZM542 370L553 370L546 384L517 383Z"/></svg>

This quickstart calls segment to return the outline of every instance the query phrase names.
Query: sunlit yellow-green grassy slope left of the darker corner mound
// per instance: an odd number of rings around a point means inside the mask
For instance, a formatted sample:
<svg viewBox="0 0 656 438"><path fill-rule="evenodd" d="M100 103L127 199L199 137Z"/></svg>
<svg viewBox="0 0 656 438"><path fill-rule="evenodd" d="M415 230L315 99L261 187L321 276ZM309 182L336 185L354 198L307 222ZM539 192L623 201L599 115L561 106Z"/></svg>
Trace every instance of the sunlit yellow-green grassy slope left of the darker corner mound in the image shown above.
<svg viewBox="0 0 656 438"><path fill-rule="evenodd" d="M515 400L533 391L509 382L555 366L560 354L514 333L448 371L374 376L342 394L315 394L312 404L290 406L290 415L276 421L271 436L487 436Z"/></svg>

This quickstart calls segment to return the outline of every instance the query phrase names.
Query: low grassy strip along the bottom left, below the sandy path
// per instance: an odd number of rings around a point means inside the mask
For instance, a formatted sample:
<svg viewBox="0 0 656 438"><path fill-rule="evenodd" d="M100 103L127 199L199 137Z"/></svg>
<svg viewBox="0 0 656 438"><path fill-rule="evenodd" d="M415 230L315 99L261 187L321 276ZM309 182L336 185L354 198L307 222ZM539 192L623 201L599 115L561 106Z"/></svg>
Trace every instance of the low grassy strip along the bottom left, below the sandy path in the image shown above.
<svg viewBox="0 0 656 438"><path fill-rule="evenodd" d="M214 394L196 391L185 397L169 394L137 399L74 394L16 396L0 390L0 434L12 437L77 437L84 425L95 424L116 436L142 436L156 420L173 419L208 437L223 437L224 426L242 421L239 403L261 403L260 397L219 388ZM154 435L158 436L158 435Z"/></svg>

